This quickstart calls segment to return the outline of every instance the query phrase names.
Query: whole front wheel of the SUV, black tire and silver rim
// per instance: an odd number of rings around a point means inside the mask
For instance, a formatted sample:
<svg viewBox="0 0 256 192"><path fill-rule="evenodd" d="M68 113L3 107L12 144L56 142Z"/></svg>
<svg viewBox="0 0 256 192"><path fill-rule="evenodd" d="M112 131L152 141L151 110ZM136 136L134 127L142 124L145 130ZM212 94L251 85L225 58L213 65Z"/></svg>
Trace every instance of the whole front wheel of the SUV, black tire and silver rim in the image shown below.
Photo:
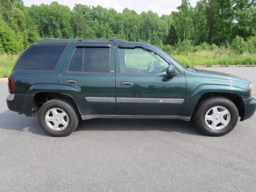
<svg viewBox="0 0 256 192"><path fill-rule="evenodd" d="M229 133L237 124L237 106L225 97L206 98L197 106L194 123L198 130L208 136L222 136Z"/></svg>

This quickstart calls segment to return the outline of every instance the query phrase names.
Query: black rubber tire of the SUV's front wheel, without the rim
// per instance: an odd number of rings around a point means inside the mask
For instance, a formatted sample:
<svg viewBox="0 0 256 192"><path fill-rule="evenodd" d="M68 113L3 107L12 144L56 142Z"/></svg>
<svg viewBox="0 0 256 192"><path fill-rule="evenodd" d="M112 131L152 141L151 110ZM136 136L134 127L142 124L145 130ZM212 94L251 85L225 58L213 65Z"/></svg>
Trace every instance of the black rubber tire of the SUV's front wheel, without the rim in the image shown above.
<svg viewBox="0 0 256 192"><path fill-rule="evenodd" d="M230 113L229 123L220 130L210 129L205 123L205 115L214 106L224 106ZM229 133L237 125L239 112L237 106L225 97L209 97L201 101L195 109L193 121L197 129L208 136L223 136Z"/></svg>

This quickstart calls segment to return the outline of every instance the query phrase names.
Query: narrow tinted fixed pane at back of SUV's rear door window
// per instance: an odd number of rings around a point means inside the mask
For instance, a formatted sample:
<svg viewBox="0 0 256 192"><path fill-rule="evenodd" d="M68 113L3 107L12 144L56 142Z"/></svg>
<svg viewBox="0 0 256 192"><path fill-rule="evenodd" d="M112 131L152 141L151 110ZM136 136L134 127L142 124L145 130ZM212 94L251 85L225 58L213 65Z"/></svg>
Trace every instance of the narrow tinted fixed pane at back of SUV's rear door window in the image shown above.
<svg viewBox="0 0 256 192"><path fill-rule="evenodd" d="M68 71L82 72L82 52L83 48L77 48L69 65Z"/></svg>

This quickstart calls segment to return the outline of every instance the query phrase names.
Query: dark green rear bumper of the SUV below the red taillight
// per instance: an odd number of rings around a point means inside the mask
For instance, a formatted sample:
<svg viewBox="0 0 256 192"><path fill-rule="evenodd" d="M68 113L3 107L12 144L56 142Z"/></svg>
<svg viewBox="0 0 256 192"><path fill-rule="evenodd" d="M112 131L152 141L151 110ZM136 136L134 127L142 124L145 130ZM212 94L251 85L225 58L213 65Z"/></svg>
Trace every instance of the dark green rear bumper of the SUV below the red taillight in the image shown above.
<svg viewBox="0 0 256 192"><path fill-rule="evenodd" d="M6 98L9 110L31 116L32 96L10 94Z"/></svg>

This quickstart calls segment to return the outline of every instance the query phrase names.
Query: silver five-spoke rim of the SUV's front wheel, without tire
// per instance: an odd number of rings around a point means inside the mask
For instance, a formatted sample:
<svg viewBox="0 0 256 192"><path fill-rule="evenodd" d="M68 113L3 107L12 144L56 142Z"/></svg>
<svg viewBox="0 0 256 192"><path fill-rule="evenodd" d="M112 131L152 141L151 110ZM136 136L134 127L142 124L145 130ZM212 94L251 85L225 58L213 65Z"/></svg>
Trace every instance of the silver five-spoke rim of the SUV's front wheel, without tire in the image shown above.
<svg viewBox="0 0 256 192"><path fill-rule="evenodd" d="M206 112L204 121L212 130L224 129L230 122L230 112L224 106L214 106Z"/></svg>

